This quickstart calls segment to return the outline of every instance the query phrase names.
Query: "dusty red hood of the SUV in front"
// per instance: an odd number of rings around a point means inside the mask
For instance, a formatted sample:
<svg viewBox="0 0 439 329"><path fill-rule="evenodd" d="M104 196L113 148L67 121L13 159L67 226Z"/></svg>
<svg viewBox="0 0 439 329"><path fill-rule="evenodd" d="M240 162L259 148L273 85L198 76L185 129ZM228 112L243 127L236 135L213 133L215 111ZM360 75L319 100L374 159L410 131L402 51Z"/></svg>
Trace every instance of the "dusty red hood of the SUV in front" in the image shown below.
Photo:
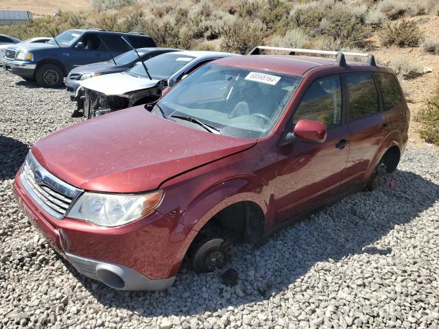
<svg viewBox="0 0 439 329"><path fill-rule="evenodd" d="M55 132L38 141L32 153L73 186L138 193L256 143L187 127L136 106Z"/></svg>

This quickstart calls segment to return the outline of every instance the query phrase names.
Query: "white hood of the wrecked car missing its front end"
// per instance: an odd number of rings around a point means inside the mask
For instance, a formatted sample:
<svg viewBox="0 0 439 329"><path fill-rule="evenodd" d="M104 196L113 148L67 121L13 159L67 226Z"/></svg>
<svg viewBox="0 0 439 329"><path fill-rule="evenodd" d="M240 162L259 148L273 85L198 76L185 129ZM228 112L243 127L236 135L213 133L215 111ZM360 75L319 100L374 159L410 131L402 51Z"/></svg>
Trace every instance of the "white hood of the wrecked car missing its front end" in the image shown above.
<svg viewBox="0 0 439 329"><path fill-rule="evenodd" d="M158 80L150 80L147 77L134 77L127 73L114 73L91 77L84 80L82 86L95 90L105 95L123 95L132 91L152 88L158 84Z"/></svg>

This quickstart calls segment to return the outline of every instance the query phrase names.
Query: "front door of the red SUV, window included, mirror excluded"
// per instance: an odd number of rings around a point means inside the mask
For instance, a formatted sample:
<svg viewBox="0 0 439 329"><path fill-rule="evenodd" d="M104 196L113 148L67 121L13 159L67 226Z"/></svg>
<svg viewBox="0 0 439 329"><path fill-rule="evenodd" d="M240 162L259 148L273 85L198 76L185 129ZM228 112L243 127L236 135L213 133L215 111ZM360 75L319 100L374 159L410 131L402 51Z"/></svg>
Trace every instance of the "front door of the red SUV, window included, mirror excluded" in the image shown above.
<svg viewBox="0 0 439 329"><path fill-rule="evenodd" d="M279 148L275 197L276 221L299 215L333 199L348 159L348 129L342 116L340 75L320 77L307 88L293 116L327 126L324 143L293 141Z"/></svg>

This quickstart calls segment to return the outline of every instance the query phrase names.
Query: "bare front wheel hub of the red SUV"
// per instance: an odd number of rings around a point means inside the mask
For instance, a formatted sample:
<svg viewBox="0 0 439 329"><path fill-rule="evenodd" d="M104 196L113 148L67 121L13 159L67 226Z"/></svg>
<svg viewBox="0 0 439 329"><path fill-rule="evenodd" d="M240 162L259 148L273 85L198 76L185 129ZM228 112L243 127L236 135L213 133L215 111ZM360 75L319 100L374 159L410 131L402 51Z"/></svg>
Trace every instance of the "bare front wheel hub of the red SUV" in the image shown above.
<svg viewBox="0 0 439 329"><path fill-rule="evenodd" d="M208 238L195 245L189 263L195 273L205 273L223 267L230 258L230 242L222 238Z"/></svg>

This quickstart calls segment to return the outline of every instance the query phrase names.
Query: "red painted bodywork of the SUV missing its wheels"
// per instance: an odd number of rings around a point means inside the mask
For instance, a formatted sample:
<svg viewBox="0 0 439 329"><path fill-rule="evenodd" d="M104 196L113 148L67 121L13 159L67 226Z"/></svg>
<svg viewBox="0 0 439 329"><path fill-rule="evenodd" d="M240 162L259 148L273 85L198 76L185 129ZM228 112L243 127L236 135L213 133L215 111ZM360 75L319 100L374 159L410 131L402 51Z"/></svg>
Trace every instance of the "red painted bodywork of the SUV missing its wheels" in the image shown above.
<svg viewBox="0 0 439 329"><path fill-rule="evenodd" d="M304 141L282 143L292 114L316 78L390 69L335 66L326 58L304 56L235 56L217 63L304 78L272 133L259 140L210 134L138 106L72 125L38 141L32 147L38 162L79 188L164 191L163 202L150 215L119 228L102 228L50 217L23 192L17 175L17 197L58 249L62 246L57 230L62 230L72 254L119 263L150 278L175 276L197 231L226 206L242 201L257 204L265 215L265 232L270 232L285 219L346 191L361 190L384 152L394 145L402 152L407 143L405 101L388 112L336 127L302 120L294 134ZM390 123L388 129L381 129L383 122ZM337 148L343 140L348 141L346 146Z"/></svg>

